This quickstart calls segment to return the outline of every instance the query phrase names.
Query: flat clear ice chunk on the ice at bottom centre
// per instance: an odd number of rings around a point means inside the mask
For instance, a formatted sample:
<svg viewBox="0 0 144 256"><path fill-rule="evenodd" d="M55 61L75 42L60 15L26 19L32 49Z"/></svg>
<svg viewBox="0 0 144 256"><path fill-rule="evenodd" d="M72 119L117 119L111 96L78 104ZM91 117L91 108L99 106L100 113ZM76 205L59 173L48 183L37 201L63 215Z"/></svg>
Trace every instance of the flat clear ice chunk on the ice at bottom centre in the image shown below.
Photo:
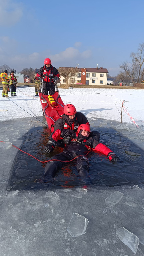
<svg viewBox="0 0 144 256"><path fill-rule="evenodd" d="M88 219L78 213L73 213L70 223L67 227L67 231L72 237L78 237L85 234L86 227L88 225Z"/></svg>

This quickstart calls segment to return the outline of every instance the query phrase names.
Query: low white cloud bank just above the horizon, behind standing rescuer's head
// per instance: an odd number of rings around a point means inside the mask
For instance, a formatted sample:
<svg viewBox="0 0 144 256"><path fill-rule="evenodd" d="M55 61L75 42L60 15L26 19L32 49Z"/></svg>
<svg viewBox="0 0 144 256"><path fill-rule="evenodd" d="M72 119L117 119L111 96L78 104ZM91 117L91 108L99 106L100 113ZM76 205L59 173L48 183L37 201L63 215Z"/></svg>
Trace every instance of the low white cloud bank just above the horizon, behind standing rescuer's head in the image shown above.
<svg viewBox="0 0 144 256"><path fill-rule="evenodd" d="M7 43L2 44L2 50L0 51L0 65L7 64L10 67L15 68L17 71L21 71L25 67L40 68L44 65L44 59L50 58L52 65L55 67L63 66L65 61L67 66L73 66L76 60L85 60L91 56L91 51L87 50L80 52L74 47L66 48L65 51L51 55L49 50L43 52L33 52L31 54L17 54L16 47L17 42L10 40L10 38L0 38L1 41L6 40ZM10 49L14 50L10 50Z"/></svg>

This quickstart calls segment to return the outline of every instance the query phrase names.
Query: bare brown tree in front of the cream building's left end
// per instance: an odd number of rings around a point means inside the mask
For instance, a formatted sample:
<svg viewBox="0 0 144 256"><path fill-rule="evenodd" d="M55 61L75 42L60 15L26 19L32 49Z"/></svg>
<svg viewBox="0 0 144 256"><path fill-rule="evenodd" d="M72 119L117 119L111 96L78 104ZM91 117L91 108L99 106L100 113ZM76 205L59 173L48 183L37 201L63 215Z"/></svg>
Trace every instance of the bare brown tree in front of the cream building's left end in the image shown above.
<svg viewBox="0 0 144 256"><path fill-rule="evenodd" d="M65 83L68 87L70 82L74 83L75 76L79 72L79 69L77 67L59 67L58 71L60 76L63 76L65 78Z"/></svg>

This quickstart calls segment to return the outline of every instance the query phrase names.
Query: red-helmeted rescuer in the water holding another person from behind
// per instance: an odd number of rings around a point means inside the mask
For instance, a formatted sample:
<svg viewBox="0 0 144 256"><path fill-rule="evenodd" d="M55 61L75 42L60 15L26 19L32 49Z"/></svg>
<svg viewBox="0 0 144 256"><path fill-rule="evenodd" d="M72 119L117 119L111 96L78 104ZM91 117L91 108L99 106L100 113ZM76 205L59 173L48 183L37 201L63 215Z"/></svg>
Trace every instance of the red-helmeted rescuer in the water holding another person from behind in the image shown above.
<svg viewBox="0 0 144 256"><path fill-rule="evenodd" d="M54 131L57 129L71 129L76 132L80 124L89 125L86 116L81 112L77 112L74 105L66 104L64 106L64 114L54 124ZM96 136L96 139L99 141L100 133L92 131L90 136ZM69 137L63 139L63 141L58 141L57 146L64 147L64 143L68 144L68 140Z"/></svg>

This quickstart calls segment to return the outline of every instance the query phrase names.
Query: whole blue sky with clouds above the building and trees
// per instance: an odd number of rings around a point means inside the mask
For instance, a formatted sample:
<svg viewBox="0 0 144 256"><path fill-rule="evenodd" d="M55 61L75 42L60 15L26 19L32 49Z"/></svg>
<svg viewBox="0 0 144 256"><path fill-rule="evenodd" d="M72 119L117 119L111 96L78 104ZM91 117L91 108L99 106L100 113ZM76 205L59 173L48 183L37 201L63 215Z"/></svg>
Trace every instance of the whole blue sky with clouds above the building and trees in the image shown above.
<svg viewBox="0 0 144 256"><path fill-rule="evenodd" d="M52 65L107 68L117 75L144 42L144 1L0 0L0 65L17 72Z"/></svg>

